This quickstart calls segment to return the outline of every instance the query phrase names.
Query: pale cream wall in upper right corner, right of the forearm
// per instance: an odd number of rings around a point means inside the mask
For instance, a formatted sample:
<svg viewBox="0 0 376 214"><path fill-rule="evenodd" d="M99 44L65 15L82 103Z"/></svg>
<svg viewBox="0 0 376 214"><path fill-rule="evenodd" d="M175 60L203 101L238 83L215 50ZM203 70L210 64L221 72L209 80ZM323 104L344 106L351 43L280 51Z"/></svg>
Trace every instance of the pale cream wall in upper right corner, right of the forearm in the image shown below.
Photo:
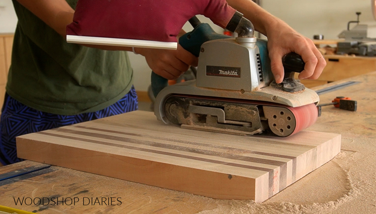
<svg viewBox="0 0 376 214"><path fill-rule="evenodd" d="M355 12L361 12L360 22L368 24L368 37L376 37L370 0L263 0L262 7L311 39L315 34L338 39L347 22L356 20Z"/></svg>

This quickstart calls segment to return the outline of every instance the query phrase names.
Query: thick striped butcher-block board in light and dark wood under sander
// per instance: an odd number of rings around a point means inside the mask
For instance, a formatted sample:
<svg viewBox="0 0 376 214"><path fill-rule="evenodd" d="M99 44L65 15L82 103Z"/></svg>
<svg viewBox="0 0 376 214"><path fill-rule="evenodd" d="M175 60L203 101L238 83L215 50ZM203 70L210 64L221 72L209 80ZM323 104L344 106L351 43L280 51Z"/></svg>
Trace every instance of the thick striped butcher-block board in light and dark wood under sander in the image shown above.
<svg viewBox="0 0 376 214"><path fill-rule="evenodd" d="M217 199L262 202L340 152L341 135L242 137L134 111L17 137L20 158Z"/></svg>

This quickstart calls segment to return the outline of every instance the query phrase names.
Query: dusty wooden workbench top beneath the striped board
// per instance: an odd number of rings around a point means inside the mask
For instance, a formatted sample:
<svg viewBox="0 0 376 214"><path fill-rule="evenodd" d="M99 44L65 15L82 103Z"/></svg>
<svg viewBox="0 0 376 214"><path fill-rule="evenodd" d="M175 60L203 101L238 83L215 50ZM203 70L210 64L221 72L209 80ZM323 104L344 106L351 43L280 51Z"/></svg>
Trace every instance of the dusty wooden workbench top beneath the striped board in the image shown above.
<svg viewBox="0 0 376 214"><path fill-rule="evenodd" d="M38 213L374 213L376 72L351 80L359 83L321 94L320 102L331 102L336 96L348 96L358 101L358 111L325 106L317 123L309 128L311 131L342 134L341 153L261 204L249 200L216 200L24 161L1 167L0 175L25 167L43 169L36 171L33 177L14 178L12 183L8 179L8 184L2 185L0 181L0 205ZM335 83L325 87L332 85ZM14 197L59 197L59 200L77 197L80 200L76 205L16 206ZM83 197L88 199L83 201ZM82 202L88 203L91 197L94 200L96 197L99 200L102 197L121 198L121 205L82 205ZM65 202L69 204L70 200ZM119 203L116 199L115 202Z"/></svg>

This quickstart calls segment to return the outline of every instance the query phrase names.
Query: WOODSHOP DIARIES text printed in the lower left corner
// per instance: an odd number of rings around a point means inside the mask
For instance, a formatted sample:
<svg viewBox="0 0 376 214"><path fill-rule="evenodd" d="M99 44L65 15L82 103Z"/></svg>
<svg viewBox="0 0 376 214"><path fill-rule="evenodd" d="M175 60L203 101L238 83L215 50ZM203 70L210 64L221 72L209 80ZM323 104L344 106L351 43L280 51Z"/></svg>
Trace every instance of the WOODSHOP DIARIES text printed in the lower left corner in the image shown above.
<svg viewBox="0 0 376 214"><path fill-rule="evenodd" d="M13 197L15 205L121 205L121 197Z"/></svg>

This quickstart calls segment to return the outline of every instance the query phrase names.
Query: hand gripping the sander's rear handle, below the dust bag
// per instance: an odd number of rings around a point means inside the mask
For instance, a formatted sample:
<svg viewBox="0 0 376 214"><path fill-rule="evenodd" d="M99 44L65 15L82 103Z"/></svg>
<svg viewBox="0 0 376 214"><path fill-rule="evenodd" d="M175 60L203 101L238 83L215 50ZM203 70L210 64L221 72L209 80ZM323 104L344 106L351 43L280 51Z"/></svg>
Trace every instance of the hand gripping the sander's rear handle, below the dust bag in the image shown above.
<svg viewBox="0 0 376 214"><path fill-rule="evenodd" d="M135 48L135 52L145 56L149 67L166 79L177 79L190 65L197 66L199 60L179 44L177 50Z"/></svg>

